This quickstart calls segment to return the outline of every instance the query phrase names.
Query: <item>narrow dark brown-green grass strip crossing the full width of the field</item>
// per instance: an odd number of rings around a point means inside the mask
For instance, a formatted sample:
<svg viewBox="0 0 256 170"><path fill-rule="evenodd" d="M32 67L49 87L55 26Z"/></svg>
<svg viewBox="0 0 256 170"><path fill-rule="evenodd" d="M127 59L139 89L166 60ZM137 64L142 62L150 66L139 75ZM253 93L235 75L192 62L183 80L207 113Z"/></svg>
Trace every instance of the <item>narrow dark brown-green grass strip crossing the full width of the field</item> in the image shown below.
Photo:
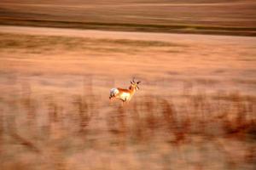
<svg viewBox="0 0 256 170"><path fill-rule="evenodd" d="M79 28L108 31L149 31L149 32L177 32L200 33L212 35L253 36L256 27L247 26L204 26L204 25L160 25L160 24L132 24L132 23L104 23L104 22L78 22L60 20L28 20L1 18L1 25L9 26L44 26L59 28Z"/></svg>

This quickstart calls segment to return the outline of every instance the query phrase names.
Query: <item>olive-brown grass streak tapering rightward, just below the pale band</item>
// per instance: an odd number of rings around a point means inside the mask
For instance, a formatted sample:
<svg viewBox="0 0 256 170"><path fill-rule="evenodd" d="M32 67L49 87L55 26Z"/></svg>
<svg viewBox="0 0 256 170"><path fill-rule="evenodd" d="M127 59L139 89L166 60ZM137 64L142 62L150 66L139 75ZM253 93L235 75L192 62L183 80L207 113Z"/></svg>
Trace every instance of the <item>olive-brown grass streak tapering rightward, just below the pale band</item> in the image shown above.
<svg viewBox="0 0 256 170"><path fill-rule="evenodd" d="M20 34L1 33L1 48L46 48L53 50L53 46L63 46L63 48L70 48L71 50L78 50L78 48L86 48L90 46L113 46L120 45L130 46L131 48L147 48L147 47L172 47L182 46L178 43L161 42L161 41L143 41L143 40L129 40L129 39L93 39L93 38L79 38L79 37L58 37L58 36L28 36ZM17 38L14 38L17 37Z"/></svg>

